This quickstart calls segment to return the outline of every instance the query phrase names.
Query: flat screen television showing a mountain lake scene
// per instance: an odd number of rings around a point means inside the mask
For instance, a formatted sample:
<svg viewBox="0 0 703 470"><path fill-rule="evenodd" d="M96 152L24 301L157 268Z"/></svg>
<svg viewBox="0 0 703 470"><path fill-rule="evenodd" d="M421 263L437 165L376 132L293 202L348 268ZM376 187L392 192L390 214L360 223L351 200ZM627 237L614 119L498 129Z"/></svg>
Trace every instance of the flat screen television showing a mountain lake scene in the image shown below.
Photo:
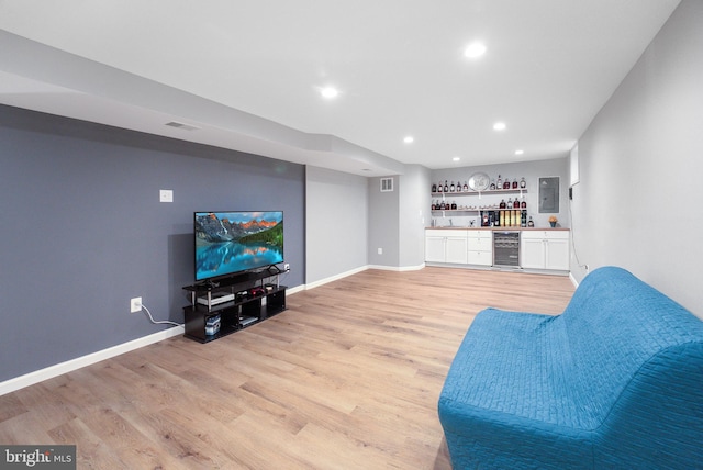
<svg viewBox="0 0 703 470"><path fill-rule="evenodd" d="M196 281L283 262L283 212L196 212Z"/></svg>

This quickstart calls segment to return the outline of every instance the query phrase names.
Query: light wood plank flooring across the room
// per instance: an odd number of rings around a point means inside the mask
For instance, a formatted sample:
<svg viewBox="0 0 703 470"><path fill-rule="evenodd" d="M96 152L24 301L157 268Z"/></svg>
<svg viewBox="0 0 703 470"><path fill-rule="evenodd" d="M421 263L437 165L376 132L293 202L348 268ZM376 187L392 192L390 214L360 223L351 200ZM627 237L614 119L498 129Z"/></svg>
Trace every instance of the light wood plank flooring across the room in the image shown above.
<svg viewBox="0 0 703 470"><path fill-rule="evenodd" d="M566 277L367 270L216 342L0 396L0 443L75 444L79 469L449 469L437 400L475 315L556 314L572 293Z"/></svg>

